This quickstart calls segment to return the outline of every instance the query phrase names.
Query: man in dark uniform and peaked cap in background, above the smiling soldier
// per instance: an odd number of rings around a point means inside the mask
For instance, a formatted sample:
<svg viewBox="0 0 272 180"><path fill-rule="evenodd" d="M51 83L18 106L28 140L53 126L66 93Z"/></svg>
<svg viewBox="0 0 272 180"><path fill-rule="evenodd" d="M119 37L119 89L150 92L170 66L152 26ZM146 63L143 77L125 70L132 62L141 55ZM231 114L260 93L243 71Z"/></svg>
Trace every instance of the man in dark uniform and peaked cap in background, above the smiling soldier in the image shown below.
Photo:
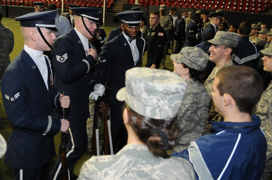
<svg viewBox="0 0 272 180"><path fill-rule="evenodd" d="M218 27L221 25L222 16L223 13L221 12L210 14L209 17L211 18L211 23L202 31L201 43L205 41L205 35L207 32L213 31L216 34Z"/></svg>

